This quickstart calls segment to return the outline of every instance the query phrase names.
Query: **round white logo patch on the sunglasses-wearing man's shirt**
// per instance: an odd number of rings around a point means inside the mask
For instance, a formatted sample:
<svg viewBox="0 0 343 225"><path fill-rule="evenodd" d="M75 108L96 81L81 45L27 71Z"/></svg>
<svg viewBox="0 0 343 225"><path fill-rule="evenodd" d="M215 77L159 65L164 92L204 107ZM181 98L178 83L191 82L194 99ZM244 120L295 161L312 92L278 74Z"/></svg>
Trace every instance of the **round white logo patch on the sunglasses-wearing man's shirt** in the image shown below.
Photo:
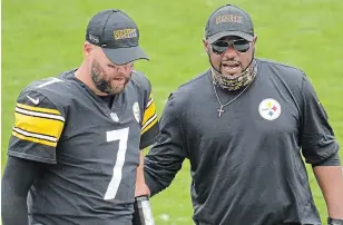
<svg viewBox="0 0 343 225"><path fill-rule="evenodd" d="M277 100L273 98L266 98L261 101L258 106L258 113L262 118L266 120L274 120L281 115L281 106Z"/></svg>

